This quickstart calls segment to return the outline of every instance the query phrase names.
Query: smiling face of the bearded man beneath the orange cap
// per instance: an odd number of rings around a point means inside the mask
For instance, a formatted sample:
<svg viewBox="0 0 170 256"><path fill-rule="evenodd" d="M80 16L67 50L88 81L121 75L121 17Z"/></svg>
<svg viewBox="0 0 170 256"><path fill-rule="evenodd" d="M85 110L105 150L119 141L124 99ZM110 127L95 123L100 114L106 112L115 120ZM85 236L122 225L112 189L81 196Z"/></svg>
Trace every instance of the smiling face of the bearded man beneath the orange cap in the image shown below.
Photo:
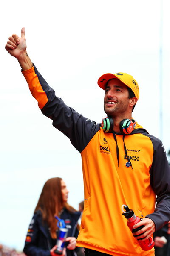
<svg viewBox="0 0 170 256"><path fill-rule="evenodd" d="M111 79L105 88L104 110L108 116L124 116L129 107L127 86L119 79Z"/></svg>

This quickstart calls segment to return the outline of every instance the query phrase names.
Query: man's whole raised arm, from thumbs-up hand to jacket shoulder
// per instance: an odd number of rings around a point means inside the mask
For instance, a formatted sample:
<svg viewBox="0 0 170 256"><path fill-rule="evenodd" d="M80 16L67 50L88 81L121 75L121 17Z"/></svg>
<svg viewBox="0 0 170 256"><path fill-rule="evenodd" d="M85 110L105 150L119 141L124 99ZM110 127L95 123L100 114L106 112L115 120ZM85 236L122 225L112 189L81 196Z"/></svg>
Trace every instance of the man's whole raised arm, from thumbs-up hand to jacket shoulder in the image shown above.
<svg viewBox="0 0 170 256"><path fill-rule="evenodd" d="M24 28L21 30L21 37L16 34L9 37L5 48L20 63L22 74L42 113L51 118L53 126L64 133L73 146L82 152L100 129L99 124L96 125L94 121L83 117L55 95L53 88L48 85L27 54Z"/></svg>

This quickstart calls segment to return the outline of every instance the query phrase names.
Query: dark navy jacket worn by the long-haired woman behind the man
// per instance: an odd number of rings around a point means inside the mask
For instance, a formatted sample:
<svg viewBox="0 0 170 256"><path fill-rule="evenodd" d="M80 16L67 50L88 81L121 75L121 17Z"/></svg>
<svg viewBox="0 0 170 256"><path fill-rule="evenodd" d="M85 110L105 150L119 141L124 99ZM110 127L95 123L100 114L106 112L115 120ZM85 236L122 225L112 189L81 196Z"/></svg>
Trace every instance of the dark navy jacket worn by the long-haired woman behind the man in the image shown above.
<svg viewBox="0 0 170 256"><path fill-rule="evenodd" d="M63 209L60 218L65 220L66 227L68 228L67 237L78 236L77 222L81 212L68 212ZM50 256L50 250L56 244L56 240L51 238L49 227L42 221L42 213L37 211L29 225L26 242L24 246L24 253L27 256ZM67 249L67 256L75 255L75 250Z"/></svg>

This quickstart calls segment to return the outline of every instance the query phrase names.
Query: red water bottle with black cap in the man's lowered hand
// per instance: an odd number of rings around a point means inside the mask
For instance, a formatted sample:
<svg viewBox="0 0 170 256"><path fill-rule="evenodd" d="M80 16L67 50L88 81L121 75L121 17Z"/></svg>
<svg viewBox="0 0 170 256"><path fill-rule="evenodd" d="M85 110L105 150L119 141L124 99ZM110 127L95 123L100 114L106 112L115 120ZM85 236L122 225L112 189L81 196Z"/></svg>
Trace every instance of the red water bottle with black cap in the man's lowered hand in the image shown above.
<svg viewBox="0 0 170 256"><path fill-rule="evenodd" d="M125 209L125 211L123 209ZM135 225L139 221L142 221L142 218L139 218L138 216L136 216L134 214L133 210L129 209L129 207L127 205L125 205L125 204L122 205L122 212L123 212L122 214L127 219L127 226L130 228L132 233L137 232L138 230L141 230L144 227L144 225L142 225L136 229L133 229L133 225ZM142 235L142 234L140 234L140 235ZM138 241L140 247L142 248L142 250L144 250L144 251L151 250L155 244L155 242L153 241L153 238L151 236L150 236L150 238L148 238L145 241L141 240L141 238L137 239L137 241Z"/></svg>

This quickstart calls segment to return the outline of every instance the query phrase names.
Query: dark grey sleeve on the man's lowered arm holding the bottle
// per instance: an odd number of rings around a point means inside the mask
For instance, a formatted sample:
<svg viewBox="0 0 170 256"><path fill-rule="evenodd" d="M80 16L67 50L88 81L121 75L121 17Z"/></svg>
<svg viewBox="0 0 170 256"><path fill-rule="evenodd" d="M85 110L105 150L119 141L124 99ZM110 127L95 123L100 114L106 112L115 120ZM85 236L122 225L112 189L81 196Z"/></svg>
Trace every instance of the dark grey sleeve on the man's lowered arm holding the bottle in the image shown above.
<svg viewBox="0 0 170 256"><path fill-rule="evenodd" d="M155 211L146 217L153 220L156 230L159 230L170 221L170 166L162 142L152 135L147 136L150 137L154 148L150 184L157 196L157 205Z"/></svg>

